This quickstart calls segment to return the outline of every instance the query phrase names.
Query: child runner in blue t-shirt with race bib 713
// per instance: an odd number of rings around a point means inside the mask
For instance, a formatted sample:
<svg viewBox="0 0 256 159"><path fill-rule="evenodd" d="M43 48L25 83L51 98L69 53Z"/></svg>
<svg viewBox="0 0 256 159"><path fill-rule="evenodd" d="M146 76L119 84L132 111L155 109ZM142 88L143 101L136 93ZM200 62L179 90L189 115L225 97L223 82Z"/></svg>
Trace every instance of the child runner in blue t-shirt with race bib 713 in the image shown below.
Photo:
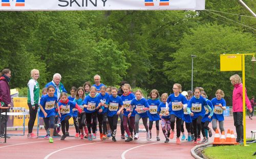
<svg viewBox="0 0 256 159"><path fill-rule="evenodd" d="M159 114L157 113L158 106L160 104L159 100L159 93L156 89L152 90L150 92L150 98L147 99L148 105L150 105L150 111L147 112L148 119L150 120L150 126L148 127L150 129L150 139L152 138L151 129L153 126L153 121L156 121L156 129L157 129L157 141L160 141L159 138Z"/></svg>

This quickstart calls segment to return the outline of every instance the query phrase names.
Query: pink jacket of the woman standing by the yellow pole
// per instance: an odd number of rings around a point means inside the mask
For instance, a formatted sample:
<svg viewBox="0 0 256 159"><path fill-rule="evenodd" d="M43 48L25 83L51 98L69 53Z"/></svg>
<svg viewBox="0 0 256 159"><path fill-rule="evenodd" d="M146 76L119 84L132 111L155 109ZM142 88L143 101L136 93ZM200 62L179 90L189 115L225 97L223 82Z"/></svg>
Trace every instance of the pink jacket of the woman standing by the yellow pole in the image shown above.
<svg viewBox="0 0 256 159"><path fill-rule="evenodd" d="M247 97L245 89L245 103L248 109L251 109L250 100ZM233 112L243 112L243 84L234 85L233 96L232 96L232 111Z"/></svg>

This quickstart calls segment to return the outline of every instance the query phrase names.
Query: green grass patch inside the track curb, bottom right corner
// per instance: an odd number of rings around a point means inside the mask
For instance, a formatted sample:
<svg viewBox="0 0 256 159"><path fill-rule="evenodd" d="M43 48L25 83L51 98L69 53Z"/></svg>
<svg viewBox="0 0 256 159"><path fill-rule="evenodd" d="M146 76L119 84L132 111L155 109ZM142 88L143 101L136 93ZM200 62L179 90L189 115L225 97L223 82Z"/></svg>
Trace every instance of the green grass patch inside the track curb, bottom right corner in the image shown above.
<svg viewBox="0 0 256 159"><path fill-rule="evenodd" d="M256 158L252 155L256 151L256 143L248 144L249 146L217 146L208 147L203 154L209 159L236 159L236 158Z"/></svg>

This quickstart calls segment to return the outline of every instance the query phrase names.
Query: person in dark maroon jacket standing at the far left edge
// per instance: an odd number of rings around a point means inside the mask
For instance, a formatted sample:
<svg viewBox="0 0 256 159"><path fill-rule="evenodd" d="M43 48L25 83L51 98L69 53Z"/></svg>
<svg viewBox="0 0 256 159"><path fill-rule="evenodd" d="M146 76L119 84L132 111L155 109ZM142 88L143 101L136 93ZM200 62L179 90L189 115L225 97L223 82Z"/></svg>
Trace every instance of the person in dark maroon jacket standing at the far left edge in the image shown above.
<svg viewBox="0 0 256 159"><path fill-rule="evenodd" d="M10 86L9 81L11 77L11 71L9 69L3 69L0 73L0 100L3 103L2 107L11 107L11 93L10 93ZM5 112L6 110L2 110L0 113ZM4 138L5 132L5 119L8 117L5 115L1 116L0 119L0 138Z"/></svg>

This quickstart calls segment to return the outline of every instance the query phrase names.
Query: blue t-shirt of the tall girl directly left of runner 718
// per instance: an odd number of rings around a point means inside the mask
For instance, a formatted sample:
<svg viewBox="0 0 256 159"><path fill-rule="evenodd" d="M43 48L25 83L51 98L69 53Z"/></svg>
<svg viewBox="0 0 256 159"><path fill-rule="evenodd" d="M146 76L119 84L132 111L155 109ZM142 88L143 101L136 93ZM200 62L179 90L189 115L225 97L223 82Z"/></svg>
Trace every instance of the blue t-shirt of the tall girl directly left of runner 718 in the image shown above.
<svg viewBox="0 0 256 159"><path fill-rule="evenodd" d="M179 94L177 97L175 94L170 94L167 103L169 103L169 113L174 114L176 117L181 118L184 115L183 108L181 107L180 103L183 104L184 107L187 106L187 99L184 95Z"/></svg>

